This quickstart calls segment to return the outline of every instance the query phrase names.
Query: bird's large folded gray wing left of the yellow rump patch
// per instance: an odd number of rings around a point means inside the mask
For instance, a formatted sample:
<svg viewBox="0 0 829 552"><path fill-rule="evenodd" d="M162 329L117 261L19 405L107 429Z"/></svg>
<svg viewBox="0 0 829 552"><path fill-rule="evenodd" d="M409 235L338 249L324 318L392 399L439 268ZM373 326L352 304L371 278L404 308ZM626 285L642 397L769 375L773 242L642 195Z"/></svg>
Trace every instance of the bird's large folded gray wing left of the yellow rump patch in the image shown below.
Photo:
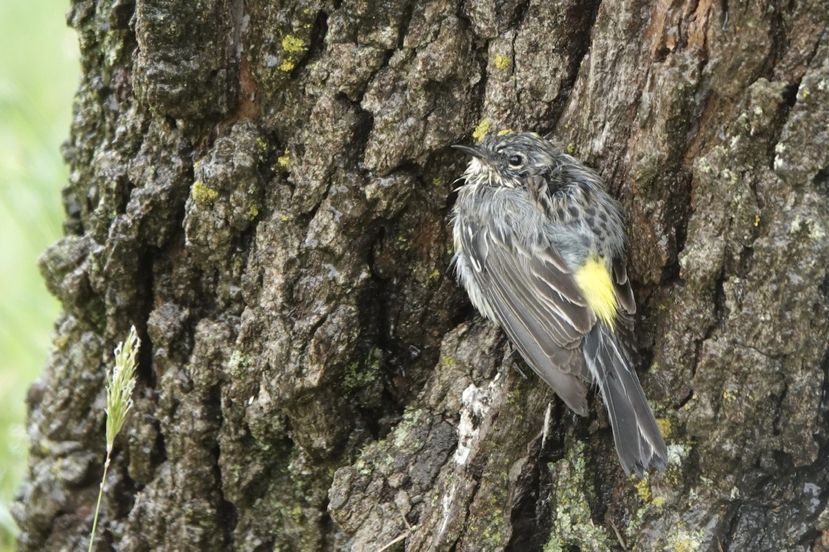
<svg viewBox="0 0 829 552"><path fill-rule="evenodd" d="M461 233L472 277L530 367L579 415L590 380L580 345L596 323L565 262L470 223Z"/></svg>

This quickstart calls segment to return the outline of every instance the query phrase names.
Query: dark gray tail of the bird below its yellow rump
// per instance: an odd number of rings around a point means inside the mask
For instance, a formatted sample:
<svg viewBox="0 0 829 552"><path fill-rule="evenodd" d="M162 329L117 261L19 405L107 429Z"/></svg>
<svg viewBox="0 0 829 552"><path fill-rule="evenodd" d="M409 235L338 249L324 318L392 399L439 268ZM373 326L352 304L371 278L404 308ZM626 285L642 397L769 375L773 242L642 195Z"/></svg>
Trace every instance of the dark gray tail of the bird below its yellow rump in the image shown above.
<svg viewBox="0 0 829 552"><path fill-rule="evenodd" d="M618 336L599 322L584 338L584 358L608 408L624 473L641 478L650 466L665 469L665 439Z"/></svg>

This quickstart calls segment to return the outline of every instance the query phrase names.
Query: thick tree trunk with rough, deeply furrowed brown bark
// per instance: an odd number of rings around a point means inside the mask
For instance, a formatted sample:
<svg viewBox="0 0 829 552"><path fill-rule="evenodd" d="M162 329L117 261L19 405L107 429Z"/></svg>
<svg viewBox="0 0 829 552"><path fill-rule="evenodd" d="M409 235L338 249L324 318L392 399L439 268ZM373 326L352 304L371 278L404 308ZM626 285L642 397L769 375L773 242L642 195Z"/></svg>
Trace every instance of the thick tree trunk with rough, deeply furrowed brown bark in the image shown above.
<svg viewBox="0 0 829 552"><path fill-rule="evenodd" d="M829 550L825 2L75 0L63 302L21 550ZM474 314L474 129L628 215L664 474L625 478ZM522 374L523 372L523 374ZM385 547L385 548L384 548Z"/></svg>

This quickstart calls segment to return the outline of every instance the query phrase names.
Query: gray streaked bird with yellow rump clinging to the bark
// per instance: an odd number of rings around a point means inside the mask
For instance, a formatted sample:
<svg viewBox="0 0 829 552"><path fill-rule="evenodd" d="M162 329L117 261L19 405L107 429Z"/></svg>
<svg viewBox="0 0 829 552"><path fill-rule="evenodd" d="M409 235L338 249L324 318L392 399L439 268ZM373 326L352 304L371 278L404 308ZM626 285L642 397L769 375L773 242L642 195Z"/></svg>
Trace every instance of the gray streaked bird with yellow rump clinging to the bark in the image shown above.
<svg viewBox="0 0 829 552"><path fill-rule="evenodd" d="M667 449L633 370L636 302L622 211L593 170L531 132L488 135L453 209L458 280L577 414L595 382L625 473L665 468Z"/></svg>

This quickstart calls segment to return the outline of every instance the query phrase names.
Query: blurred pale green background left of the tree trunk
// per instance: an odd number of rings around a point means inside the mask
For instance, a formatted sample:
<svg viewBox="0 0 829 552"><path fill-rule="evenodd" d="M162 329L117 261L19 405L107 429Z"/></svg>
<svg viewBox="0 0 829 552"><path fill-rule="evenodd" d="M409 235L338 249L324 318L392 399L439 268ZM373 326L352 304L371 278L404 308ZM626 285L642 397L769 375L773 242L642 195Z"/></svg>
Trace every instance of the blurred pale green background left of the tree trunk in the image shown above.
<svg viewBox="0 0 829 552"><path fill-rule="evenodd" d="M26 473L26 390L42 372L59 305L37 257L61 236L60 147L78 84L69 0L0 2L0 552L17 529L9 504Z"/></svg>

